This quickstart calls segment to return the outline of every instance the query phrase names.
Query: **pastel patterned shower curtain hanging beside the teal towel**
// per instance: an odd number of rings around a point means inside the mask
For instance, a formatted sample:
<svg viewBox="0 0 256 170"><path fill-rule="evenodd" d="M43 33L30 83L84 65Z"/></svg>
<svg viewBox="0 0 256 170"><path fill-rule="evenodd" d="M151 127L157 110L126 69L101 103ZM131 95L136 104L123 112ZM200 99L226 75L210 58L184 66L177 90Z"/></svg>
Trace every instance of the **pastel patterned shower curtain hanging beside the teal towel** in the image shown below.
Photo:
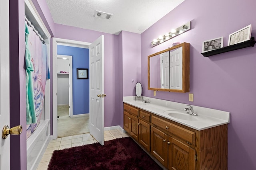
<svg viewBox="0 0 256 170"><path fill-rule="evenodd" d="M38 127L42 113L44 108L44 95L45 95L45 85L46 80L48 78L49 73L49 66L48 66L48 56L47 56L47 45L43 44L42 41L40 41L39 37L36 35L36 33L33 31L33 28L28 26L27 23L25 25L27 29L26 32L28 34L27 37L27 45L26 45L26 55L27 53L30 53L30 63L32 65L32 71L30 70L31 75L27 76L28 82L31 81L31 87L28 88L27 91L27 98L28 101L32 100L32 102L28 102L27 104L33 105L33 106L27 106L27 109L33 109L27 111L27 139L30 137L30 135L35 131L36 127ZM26 63L29 63L26 61ZM26 64L26 69L27 64ZM34 115L32 115L34 113ZM31 114L31 117L35 116L36 121L33 119L30 119L28 117L28 114Z"/></svg>

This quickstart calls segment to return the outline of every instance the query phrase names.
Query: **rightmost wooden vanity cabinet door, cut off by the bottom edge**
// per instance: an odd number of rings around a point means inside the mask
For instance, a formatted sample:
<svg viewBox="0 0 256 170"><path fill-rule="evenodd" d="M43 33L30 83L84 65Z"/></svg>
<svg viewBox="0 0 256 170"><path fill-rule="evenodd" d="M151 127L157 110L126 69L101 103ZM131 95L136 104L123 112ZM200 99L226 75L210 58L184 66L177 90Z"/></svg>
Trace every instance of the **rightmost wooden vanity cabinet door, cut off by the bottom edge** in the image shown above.
<svg viewBox="0 0 256 170"><path fill-rule="evenodd" d="M195 170L195 150L188 145L168 137L168 169Z"/></svg>

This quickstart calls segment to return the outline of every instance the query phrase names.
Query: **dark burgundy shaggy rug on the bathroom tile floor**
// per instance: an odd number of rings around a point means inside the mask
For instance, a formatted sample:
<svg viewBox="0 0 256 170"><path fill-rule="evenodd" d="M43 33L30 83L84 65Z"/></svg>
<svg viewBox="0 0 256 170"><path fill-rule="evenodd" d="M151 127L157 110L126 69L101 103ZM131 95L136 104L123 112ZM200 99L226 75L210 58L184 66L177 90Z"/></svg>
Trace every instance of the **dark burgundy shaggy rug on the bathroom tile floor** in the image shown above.
<svg viewBox="0 0 256 170"><path fill-rule="evenodd" d="M55 150L48 170L162 170L131 137Z"/></svg>

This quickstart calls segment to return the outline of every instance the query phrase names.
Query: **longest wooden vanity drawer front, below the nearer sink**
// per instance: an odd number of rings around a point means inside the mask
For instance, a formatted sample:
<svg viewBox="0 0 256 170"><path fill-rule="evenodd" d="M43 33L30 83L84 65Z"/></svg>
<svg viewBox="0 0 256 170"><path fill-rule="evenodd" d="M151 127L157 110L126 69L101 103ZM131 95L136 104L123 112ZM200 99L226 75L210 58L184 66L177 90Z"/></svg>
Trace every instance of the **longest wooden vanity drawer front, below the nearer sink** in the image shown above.
<svg viewBox="0 0 256 170"><path fill-rule="evenodd" d="M193 131L190 131L188 129L175 125L174 123L170 123L168 121L162 120L153 115L151 117L151 122L154 125L176 135L177 137L180 137L181 139L190 143L191 145L193 145L195 142L195 132Z"/></svg>

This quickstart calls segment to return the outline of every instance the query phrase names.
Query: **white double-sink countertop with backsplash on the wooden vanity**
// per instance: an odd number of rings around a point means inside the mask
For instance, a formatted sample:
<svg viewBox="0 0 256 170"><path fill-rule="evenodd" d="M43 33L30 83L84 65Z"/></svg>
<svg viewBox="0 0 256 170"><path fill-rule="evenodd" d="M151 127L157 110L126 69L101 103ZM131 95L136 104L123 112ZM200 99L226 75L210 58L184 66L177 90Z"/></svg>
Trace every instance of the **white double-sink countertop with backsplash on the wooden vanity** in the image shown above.
<svg viewBox="0 0 256 170"><path fill-rule="evenodd" d="M186 111L183 111L184 108L188 107L186 104L149 97L143 97L143 99L150 103L142 102L142 98L136 101L134 99L134 96L124 97L123 102L165 117L182 125L186 125L198 131L224 125L230 122L230 112L227 111L192 105L194 112L198 114L198 116L194 116L188 115ZM170 116L169 113L172 116Z"/></svg>

